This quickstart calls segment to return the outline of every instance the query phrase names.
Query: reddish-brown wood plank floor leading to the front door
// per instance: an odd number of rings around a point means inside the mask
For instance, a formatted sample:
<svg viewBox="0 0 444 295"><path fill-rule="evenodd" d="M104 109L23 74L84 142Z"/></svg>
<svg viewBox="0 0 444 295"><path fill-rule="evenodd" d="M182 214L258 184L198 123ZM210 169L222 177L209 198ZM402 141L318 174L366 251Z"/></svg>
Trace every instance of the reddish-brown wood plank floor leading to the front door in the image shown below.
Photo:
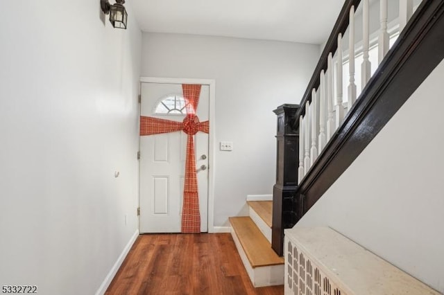
<svg viewBox="0 0 444 295"><path fill-rule="evenodd" d="M140 235L105 294L284 294L255 288L229 233Z"/></svg>

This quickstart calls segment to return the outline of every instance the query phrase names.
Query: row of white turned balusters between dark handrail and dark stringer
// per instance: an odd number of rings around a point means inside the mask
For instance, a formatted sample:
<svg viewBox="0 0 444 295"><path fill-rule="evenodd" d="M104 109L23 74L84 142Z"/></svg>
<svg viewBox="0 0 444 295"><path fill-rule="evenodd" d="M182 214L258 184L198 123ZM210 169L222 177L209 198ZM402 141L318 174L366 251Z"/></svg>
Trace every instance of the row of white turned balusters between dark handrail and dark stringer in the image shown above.
<svg viewBox="0 0 444 295"><path fill-rule="evenodd" d="M388 24L388 0L379 0L379 13L372 14L370 12L369 0L361 1L362 9L359 10L359 15L355 14L357 9L354 6L351 7L348 30L344 34L348 36L348 40L345 40L348 48L344 51L343 34L339 33L336 53L329 53L327 69L321 71L318 89L311 90L311 99L305 103L305 114L299 118L298 184L314 165L336 129L343 123L347 112L352 109L357 98L359 98L359 93L370 80L371 73L377 70L377 66L386 56L390 47L390 36L397 36L413 15L413 0L398 1L398 21L391 22L393 28ZM378 1L375 2L375 5L377 4ZM358 19L358 17L362 21L362 40L359 40L359 42L355 39L355 29L357 28L355 19ZM373 32L377 34L377 41L374 44L372 44L373 37L370 35L371 19L379 23L379 29ZM371 62L370 52L375 52L373 62ZM362 59L359 64L356 62L358 56L359 60ZM347 65L348 73L346 71ZM355 65L361 66L358 71L361 77L358 77L358 80ZM348 81L347 85L344 86L343 81ZM356 81L361 84L359 90L357 90ZM344 87L347 87L345 94ZM358 91L359 93L357 93ZM346 100L346 102L343 100Z"/></svg>

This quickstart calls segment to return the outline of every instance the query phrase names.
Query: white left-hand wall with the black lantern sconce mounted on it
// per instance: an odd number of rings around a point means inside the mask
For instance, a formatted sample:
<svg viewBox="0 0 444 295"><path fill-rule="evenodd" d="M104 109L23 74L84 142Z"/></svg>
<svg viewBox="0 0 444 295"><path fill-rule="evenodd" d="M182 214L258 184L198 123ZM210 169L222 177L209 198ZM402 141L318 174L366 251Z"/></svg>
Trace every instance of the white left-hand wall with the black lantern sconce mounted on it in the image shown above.
<svg viewBox="0 0 444 295"><path fill-rule="evenodd" d="M142 34L99 0L2 11L0 285L94 294L138 227Z"/></svg>

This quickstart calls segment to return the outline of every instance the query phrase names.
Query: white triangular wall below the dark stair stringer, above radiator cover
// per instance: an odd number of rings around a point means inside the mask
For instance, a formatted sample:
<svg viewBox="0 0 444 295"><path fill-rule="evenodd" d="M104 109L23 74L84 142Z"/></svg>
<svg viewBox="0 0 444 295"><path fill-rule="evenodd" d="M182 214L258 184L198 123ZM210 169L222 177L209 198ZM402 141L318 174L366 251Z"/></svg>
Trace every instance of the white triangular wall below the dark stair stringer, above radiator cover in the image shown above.
<svg viewBox="0 0 444 295"><path fill-rule="evenodd" d="M331 226L444 292L444 61L297 226Z"/></svg>

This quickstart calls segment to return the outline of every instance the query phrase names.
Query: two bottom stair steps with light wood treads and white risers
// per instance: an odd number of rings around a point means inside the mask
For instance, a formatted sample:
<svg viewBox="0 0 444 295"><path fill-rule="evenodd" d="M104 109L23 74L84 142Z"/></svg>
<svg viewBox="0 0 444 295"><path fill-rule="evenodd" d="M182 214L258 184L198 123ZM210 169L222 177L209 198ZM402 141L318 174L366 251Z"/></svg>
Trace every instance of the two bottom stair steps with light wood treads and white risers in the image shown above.
<svg viewBox="0 0 444 295"><path fill-rule="evenodd" d="M247 201L249 216L230 217L231 235L255 287L284 284L284 258L271 249L272 201Z"/></svg>

